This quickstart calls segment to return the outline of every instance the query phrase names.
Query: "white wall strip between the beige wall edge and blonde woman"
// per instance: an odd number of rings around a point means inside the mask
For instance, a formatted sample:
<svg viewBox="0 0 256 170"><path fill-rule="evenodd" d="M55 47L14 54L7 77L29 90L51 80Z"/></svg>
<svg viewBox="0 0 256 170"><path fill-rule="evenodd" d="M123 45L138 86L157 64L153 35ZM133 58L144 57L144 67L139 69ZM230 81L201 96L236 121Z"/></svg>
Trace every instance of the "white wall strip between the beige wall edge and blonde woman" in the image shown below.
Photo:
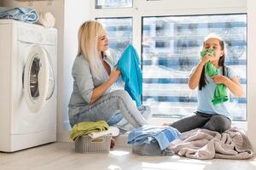
<svg viewBox="0 0 256 170"><path fill-rule="evenodd" d="M58 139L60 141L67 141L67 134L70 128L68 121L68 102L70 94L73 90L73 78L71 76L73 59L76 57L78 50L78 31L79 26L85 20L89 20L89 2L84 0L65 0L65 14L64 14L64 55L63 65L61 69L62 90L59 95L60 110L59 110L59 130Z"/></svg>

